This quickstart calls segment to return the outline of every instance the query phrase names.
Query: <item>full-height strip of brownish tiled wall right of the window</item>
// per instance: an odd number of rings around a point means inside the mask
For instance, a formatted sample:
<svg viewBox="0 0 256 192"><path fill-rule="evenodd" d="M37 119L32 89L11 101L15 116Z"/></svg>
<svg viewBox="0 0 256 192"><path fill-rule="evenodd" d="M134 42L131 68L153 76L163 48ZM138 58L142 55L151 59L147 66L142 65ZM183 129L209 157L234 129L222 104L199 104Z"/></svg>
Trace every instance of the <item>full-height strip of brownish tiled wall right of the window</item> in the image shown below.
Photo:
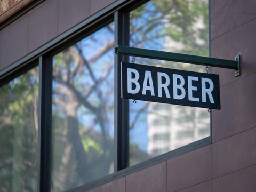
<svg viewBox="0 0 256 192"><path fill-rule="evenodd" d="M256 190L256 2L211 1L211 54L242 54L242 75L220 74L221 110L212 113L213 191Z"/></svg>

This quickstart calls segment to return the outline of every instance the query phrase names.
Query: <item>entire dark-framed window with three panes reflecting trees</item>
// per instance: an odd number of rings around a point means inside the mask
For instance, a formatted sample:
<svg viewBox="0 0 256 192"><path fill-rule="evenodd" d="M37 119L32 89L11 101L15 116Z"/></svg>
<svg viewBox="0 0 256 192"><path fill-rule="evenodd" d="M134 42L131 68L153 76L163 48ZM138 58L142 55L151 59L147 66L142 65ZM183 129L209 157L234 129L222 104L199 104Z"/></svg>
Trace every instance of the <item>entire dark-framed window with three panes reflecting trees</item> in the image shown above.
<svg viewBox="0 0 256 192"><path fill-rule="evenodd" d="M207 109L121 99L120 62L129 57L115 55L115 45L209 54L207 1L145 2L117 0L14 63L10 74L0 71L8 81L39 62L0 87L1 191L86 191L211 142Z"/></svg>

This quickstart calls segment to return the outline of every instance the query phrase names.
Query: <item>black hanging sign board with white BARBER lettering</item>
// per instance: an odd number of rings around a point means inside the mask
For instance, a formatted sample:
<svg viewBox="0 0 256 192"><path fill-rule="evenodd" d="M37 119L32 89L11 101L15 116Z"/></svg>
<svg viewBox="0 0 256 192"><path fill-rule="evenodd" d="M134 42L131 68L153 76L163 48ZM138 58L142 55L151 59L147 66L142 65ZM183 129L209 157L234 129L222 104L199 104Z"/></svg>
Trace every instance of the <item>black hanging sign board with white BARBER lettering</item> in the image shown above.
<svg viewBox="0 0 256 192"><path fill-rule="evenodd" d="M219 75L121 63L122 98L220 109Z"/></svg>

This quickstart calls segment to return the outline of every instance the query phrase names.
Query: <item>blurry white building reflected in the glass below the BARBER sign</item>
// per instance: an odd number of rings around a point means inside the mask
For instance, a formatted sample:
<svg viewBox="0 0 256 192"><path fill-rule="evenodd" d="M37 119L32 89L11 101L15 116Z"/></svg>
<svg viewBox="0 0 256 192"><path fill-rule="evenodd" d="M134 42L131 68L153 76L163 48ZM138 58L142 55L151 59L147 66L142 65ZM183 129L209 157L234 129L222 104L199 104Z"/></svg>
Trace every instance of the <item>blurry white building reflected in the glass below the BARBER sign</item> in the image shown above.
<svg viewBox="0 0 256 192"><path fill-rule="evenodd" d="M205 111L207 109L149 103L148 154L160 155L209 136L209 114Z"/></svg>

